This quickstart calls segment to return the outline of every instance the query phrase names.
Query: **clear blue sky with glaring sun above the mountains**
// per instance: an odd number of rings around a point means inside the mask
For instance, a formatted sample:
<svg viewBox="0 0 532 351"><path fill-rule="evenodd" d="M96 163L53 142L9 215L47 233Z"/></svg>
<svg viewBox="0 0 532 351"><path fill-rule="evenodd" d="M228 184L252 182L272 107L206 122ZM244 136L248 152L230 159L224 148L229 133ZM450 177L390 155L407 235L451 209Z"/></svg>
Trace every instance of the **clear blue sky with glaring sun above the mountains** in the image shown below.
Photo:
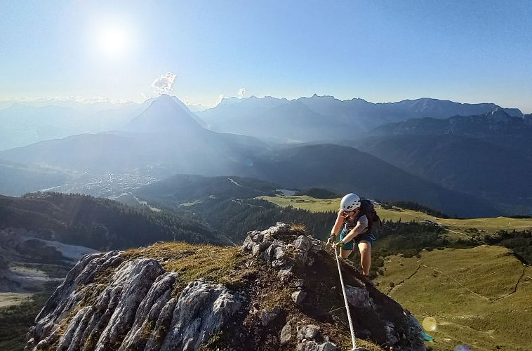
<svg viewBox="0 0 532 351"><path fill-rule="evenodd" d="M172 72L204 105L246 88L530 113L531 58L528 1L0 0L0 100L140 101Z"/></svg>

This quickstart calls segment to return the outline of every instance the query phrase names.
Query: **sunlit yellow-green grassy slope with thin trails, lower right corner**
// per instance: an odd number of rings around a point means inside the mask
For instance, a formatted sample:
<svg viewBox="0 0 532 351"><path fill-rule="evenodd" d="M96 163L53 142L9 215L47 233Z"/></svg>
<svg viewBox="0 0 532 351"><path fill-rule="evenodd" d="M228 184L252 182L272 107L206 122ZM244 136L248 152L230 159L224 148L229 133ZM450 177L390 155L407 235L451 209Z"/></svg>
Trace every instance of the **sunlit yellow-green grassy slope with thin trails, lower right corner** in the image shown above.
<svg viewBox="0 0 532 351"><path fill-rule="evenodd" d="M391 256L375 279L429 331L433 350L530 350L532 268L501 246L423 251L420 258Z"/></svg>

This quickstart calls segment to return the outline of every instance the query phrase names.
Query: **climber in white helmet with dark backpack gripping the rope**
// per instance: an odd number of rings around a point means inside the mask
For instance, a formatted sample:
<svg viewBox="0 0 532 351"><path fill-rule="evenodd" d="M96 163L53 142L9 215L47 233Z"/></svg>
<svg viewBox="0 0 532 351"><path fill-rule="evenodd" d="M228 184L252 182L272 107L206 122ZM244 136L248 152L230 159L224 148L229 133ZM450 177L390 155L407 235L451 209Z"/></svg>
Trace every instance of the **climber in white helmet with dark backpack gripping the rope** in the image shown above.
<svg viewBox="0 0 532 351"><path fill-rule="evenodd" d="M371 267L371 245L375 241L375 235L371 231L373 225L373 205L371 209L362 209L361 200L357 194L347 194L340 201L338 216L331 230L331 236L327 243L333 246L333 249L340 247L340 257L347 258L353 251L354 244L357 244L360 251L360 264L362 271L367 277ZM376 216L376 213L375 215ZM368 217L371 220L368 220ZM377 216L378 218L378 216ZM378 220L380 222L380 220ZM341 232L340 232L341 228ZM336 241L336 235L340 232L340 241Z"/></svg>

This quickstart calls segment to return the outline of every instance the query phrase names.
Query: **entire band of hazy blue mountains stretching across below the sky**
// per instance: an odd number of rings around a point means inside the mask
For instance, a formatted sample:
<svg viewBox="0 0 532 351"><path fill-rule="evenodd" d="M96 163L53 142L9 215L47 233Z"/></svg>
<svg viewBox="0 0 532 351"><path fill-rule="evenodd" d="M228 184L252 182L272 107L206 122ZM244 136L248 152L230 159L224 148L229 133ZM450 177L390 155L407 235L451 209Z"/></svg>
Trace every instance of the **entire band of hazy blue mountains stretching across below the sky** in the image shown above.
<svg viewBox="0 0 532 351"><path fill-rule="evenodd" d="M493 216L532 211L524 176L530 120L494 104L319 96L230 98L194 114L161 95L119 130L41 141L2 151L0 159L82 174L148 169L163 176L246 176L281 187L416 201L451 216ZM501 187L505 180L510 185Z"/></svg>

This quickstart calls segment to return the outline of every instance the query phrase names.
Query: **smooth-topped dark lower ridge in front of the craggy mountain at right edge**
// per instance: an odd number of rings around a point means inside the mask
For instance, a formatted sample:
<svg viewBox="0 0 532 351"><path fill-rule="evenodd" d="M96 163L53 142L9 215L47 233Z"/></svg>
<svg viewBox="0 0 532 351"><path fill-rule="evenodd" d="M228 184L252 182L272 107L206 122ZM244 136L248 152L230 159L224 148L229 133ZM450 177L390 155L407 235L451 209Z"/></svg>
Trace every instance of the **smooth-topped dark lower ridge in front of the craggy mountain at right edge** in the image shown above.
<svg viewBox="0 0 532 351"><path fill-rule="evenodd" d="M532 157L460 135L386 135L359 147L408 173L494 203L530 204ZM531 211L532 208L528 209Z"/></svg>

